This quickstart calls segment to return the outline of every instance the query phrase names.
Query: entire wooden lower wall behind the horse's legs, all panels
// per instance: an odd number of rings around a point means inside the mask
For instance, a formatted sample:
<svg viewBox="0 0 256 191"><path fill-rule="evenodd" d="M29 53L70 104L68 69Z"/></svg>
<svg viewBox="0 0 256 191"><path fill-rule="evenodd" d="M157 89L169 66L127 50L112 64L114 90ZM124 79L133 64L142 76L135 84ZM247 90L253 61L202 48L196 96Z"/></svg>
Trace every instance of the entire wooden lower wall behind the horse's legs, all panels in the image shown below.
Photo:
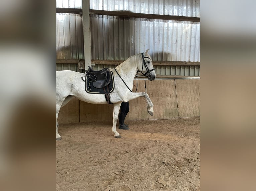
<svg viewBox="0 0 256 191"><path fill-rule="evenodd" d="M136 81L134 81L136 84ZM135 87L133 87L135 91ZM199 79L138 80L138 92L146 92L154 104L154 115L147 112L142 97L129 101L130 112L126 120L173 119L200 116ZM71 100L61 108L59 123L112 122L113 105L89 104Z"/></svg>

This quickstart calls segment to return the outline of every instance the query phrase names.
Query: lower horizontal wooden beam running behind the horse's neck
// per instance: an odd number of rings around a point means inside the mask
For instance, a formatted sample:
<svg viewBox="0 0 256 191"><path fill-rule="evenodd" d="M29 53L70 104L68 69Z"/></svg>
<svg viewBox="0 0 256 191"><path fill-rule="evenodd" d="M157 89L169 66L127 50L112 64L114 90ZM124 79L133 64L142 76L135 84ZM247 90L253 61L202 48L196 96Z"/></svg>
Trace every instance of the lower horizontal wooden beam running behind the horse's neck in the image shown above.
<svg viewBox="0 0 256 191"><path fill-rule="evenodd" d="M118 65L124 60L91 60L91 64ZM57 64L78 64L78 59L56 59ZM200 62L153 61L154 66L200 66Z"/></svg>

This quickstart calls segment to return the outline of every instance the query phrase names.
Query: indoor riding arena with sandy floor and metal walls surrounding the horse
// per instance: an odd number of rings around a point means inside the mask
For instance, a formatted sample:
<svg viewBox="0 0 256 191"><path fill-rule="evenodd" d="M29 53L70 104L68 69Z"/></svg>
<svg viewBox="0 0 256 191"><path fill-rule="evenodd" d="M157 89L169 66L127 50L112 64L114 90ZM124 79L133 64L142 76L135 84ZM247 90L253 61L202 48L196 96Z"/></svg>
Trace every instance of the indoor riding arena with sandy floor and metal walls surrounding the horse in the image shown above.
<svg viewBox="0 0 256 191"><path fill-rule="evenodd" d="M125 124L112 133L113 105L73 98L60 109L57 191L200 190L200 1L57 0L56 71L114 69L146 52ZM82 6L83 5L83 6ZM81 79L82 80L82 79Z"/></svg>

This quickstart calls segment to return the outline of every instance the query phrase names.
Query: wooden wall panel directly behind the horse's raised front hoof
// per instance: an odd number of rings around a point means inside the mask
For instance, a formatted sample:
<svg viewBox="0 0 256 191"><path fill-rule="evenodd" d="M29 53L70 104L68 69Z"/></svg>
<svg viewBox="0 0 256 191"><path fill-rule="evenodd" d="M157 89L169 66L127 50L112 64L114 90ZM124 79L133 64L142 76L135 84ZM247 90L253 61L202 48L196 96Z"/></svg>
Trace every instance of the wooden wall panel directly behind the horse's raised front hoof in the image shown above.
<svg viewBox="0 0 256 191"><path fill-rule="evenodd" d="M146 81L147 93L154 104L154 116L149 120L178 118L174 80Z"/></svg>

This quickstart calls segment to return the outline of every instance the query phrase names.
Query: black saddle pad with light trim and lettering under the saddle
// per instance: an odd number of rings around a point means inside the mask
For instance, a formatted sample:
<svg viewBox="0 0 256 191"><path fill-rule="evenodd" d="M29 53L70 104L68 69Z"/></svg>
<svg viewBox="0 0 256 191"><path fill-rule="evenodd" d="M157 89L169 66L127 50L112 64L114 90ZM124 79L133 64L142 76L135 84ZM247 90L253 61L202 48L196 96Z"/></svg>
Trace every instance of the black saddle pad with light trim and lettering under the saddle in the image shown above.
<svg viewBox="0 0 256 191"><path fill-rule="evenodd" d="M113 72L111 71L111 81L109 83L109 93L113 92L114 88L115 88L115 82L114 82L114 78L113 78ZM87 76L85 77L85 91L89 94L105 94L103 88L95 88L93 86L93 81L89 78L87 80Z"/></svg>

